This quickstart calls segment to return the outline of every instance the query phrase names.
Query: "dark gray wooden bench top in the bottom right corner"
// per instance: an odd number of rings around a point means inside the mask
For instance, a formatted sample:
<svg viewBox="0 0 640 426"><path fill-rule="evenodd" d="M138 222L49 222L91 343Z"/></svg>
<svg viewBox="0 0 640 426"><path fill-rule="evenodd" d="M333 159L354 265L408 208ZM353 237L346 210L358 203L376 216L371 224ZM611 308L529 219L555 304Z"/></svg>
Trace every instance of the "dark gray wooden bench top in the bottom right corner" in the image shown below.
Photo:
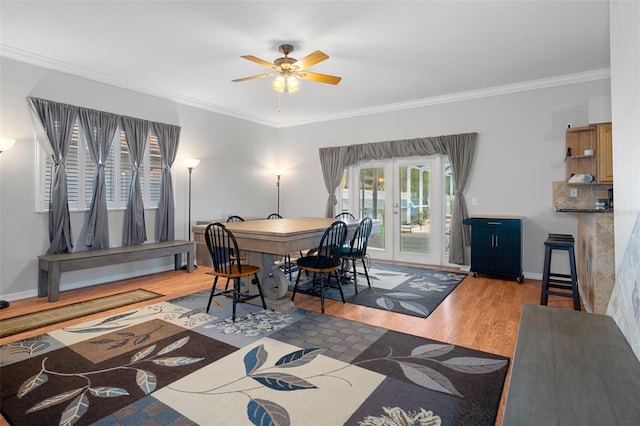
<svg viewBox="0 0 640 426"><path fill-rule="evenodd" d="M640 424L640 361L613 318L525 305L502 424Z"/></svg>

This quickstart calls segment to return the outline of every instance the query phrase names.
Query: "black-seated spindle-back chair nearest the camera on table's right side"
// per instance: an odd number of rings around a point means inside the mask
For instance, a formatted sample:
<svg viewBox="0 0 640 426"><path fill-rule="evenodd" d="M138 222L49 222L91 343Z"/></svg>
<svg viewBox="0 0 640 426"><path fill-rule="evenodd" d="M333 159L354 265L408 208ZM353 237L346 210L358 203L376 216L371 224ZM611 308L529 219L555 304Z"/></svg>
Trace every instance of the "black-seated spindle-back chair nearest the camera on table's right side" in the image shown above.
<svg viewBox="0 0 640 426"><path fill-rule="evenodd" d="M329 280L331 274L334 274L338 280L338 289L340 290L342 303L345 303L341 278L337 271L341 265L340 249L346 239L347 225L341 221L333 222L322 235L320 245L317 250L315 250L315 254L302 256L297 260L296 265L298 269L304 270L307 273L312 272L313 276L311 278L311 288L302 291L298 289L301 275L301 273L298 273L296 283L293 287L291 301L295 299L298 291L312 295L320 295L320 306L322 313L324 313L324 293L330 288Z"/></svg>

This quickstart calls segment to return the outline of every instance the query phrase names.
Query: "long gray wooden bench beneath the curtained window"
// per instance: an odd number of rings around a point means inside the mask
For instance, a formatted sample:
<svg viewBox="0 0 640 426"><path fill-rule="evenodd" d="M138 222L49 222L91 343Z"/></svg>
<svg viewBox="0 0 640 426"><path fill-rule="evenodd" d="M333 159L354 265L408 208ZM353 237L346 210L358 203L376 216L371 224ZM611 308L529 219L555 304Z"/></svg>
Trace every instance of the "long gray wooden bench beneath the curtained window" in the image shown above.
<svg viewBox="0 0 640 426"><path fill-rule="evenodd" d="M182 253L187 253L187 271L193 272L195 243L184 240L38 256L38 297L48 295L49 302L58 300L62 272L164 256L175 256L175 269L181 269Z"/></svg>

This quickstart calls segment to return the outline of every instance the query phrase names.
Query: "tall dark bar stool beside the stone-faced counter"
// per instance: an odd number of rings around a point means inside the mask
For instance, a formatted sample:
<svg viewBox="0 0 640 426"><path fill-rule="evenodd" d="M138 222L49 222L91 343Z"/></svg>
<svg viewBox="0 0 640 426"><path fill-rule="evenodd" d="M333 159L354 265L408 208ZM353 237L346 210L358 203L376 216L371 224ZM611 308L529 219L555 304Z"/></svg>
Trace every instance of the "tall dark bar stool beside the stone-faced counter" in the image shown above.
<svg viewBox="0 0 640 426"><path fill-rule="evenodd" d="M576 256L574 251L574 239L570 234L549 234L544 242L544 270L542 272L542 292L540 304L546 305L549 295L571 297L573 309L580 310L580 293L578 291L578 274L576 273ZM569 253L570 274L558 274L551 272L551 256L554 250L565 250ZM556 291L550 289L559 289Z"/></svg>

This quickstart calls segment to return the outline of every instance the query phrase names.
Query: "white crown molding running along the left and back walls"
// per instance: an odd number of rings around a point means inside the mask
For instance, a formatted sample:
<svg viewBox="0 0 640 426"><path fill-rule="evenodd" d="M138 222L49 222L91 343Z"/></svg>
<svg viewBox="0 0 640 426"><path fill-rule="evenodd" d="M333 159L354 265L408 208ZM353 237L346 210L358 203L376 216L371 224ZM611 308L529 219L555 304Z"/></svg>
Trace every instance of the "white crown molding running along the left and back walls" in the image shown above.
<svg viewBox="0 0 640 426"><path fill-rule="evenodd" d="M262 117L247 114L221 105L205 102L201 99L183 96L174 92L159 89L154 86L146 85L140 82L123 79L114 75L102 73L92 69L79 67L68 62L58 61L46 56L37 55L14 47L0 44L0 56L15 59L17 61L26 62L32 65L75 75L77 77L86 78L88 80L109 84L122 89L132 90L146 95L155 96L157 98L170 100L187 106L235 117L241 120L250 121L274 128L301 126L305 124L313 124L324 121L341 120L345 118L362 117L366 115L381 114L387 112L396 112L407 109L421 108L425 106L433 106L447 104L453 102L468 101L472 99L486 98L492 96L501 96L512 93L526 92L530 90L545 89L550 87L564 86L568 84L583 83L595 80L605 80L611 78L611 69L599 69L586 71L576 74L568 74L557 77L545 78L540 80L525 81L521 83L508 84L504 86L489 87L486 89L471 90L468 92L453 93L443 96L434 96L430 98L416 99L407 102L398 102L393 104L379 105L371 108L353 110L346 113L316 116L308 119L275 122Z"/></svg>

